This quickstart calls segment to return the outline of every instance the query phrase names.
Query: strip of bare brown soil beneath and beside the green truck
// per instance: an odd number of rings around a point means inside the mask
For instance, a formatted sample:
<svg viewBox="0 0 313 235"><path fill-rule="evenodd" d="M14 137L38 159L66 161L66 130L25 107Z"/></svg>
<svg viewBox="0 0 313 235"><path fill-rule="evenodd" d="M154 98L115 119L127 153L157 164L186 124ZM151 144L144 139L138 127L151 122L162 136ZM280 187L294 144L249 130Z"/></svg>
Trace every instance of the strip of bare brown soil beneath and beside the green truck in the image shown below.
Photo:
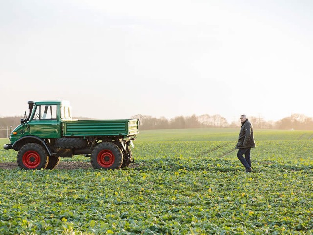
<svg viewBox="0 0 313 235"><path fill-rule="evenodd" d="M139 164L130 164L129 168L136 168ZM18 165L15 162L11 163L0 163L0 169L2 170L13 170L17 169ZM92 169L92 165L90 162L78 162L78 161L72 161L72 162L66 162L61 161L57 167L55 167L56 170L76 170L76 169Z"/></svg>

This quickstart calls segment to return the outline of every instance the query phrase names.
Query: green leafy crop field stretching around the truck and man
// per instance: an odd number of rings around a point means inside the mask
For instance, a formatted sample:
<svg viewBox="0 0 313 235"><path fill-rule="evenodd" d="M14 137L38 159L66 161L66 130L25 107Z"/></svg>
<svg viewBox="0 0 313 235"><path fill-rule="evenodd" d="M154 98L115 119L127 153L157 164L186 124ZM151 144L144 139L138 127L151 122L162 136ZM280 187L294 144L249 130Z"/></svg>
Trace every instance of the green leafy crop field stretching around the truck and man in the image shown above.
<svg viewBox="0 0 313 235"><path fill-rule="evenodd" d="M1 169L0 234L312 234L313 131L255 130L248 174L238 133L141 131L126 170Z"/></svg>

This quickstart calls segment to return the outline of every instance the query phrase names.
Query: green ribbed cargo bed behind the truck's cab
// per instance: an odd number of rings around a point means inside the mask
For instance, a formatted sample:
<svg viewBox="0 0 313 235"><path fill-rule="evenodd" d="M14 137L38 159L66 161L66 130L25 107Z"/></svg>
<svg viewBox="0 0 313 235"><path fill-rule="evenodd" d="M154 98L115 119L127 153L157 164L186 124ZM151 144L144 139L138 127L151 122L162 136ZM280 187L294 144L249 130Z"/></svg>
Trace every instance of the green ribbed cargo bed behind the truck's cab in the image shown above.
<svg viewBox="0 0 313 235"><path fill-rule="evenodd" d="M138 134L139 120L64 121L64 136L132 136Z"/></svg>

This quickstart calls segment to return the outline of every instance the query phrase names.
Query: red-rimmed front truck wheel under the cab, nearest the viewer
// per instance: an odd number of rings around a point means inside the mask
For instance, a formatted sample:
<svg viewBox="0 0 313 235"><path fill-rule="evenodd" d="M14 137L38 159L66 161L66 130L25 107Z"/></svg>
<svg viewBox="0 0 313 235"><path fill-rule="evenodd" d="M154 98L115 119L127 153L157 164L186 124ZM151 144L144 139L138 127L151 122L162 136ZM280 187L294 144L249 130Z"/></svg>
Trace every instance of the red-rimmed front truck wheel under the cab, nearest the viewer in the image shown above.
<svg viewBox="0 0 313 235"><path fill-rule="evenodd" d="M21 169L45 169L48 164L48 154L38 143L27 143L19 150L16 162Z"/></svg>

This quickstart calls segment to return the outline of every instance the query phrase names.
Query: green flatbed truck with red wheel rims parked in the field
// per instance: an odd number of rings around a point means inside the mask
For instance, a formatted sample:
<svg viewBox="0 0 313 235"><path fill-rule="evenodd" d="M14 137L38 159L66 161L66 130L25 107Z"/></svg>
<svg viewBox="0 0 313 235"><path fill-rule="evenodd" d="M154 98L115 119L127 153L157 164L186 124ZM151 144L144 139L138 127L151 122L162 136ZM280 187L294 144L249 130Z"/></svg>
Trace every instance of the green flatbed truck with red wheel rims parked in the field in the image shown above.
<svg viewBox="0 0 313 235"><path fill-rule="evenodd" d="M132 141L138 119L72 119L68 101L28 102L29 114L10 134L4 149L18 151L21 169L54 169L61 157L85 155L95 169L120 169L134 162Z"/></svg>

